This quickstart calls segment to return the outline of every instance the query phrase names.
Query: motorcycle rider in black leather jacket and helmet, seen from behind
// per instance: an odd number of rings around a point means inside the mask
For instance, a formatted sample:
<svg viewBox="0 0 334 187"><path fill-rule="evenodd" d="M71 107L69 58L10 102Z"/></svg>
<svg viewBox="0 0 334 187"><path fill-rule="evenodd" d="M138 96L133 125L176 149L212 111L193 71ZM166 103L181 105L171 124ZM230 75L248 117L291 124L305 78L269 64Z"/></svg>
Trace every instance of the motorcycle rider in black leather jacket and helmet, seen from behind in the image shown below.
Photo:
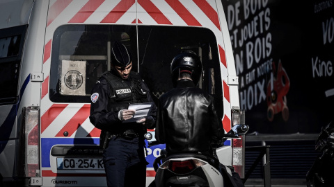
<svg viewBox="0 0 334 187"><path fill-rule="evenodd" d="M159 98L155 138L166 143L168 155L176 153L203 154L214 157L212 145L223 139L223 125L214 109L213 97L198 88L202 73L200 57L193 51L182 51L173 58L170 72L174 89ZM225 166L216 167L227 175ZM231 171L231 184L244 186L239 175ZM224 180L228 181L228 180Z"/></svg>

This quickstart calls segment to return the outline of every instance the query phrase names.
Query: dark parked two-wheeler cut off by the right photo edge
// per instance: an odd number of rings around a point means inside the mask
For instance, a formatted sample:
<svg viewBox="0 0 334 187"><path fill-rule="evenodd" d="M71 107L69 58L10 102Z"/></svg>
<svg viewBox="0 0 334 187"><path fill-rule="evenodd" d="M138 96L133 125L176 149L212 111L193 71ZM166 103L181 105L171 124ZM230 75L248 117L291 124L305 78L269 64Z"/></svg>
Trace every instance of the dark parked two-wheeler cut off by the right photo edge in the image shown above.
<svg viewBox="0 0 334 187"><path fill-rule="evenodd" d="M315 150L321 152L306 175L308 187L334 186L334 123L321 130L315 144Z"/></svg>

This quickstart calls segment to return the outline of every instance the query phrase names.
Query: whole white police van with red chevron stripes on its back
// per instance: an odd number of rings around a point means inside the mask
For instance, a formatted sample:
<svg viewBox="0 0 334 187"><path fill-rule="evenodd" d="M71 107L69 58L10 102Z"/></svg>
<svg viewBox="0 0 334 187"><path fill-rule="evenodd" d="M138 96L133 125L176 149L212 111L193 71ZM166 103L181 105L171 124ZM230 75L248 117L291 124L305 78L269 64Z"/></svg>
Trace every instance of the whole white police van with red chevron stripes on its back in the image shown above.
<svg viewBox="0 0 334 187"><path fill-rule="evenodd" d="M132 52L133 71L155 100L173 88L173 57L198 53L199 86L214 96L225 131L239 123L220 0L1 0L0 186L106 186L100 130L88 116L90 91L111 69L116 40ZM226 143L241 177L242 141ZM161 149L147 148L148 184Z"/></svg>

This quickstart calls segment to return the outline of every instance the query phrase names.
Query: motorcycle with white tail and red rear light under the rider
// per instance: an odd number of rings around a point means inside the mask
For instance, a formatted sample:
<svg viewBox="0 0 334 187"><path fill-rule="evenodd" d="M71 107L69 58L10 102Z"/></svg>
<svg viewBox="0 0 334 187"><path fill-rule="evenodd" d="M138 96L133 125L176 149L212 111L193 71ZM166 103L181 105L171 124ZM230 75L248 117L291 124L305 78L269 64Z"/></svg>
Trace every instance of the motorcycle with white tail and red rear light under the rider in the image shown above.
<svg viewBox="0 0 334 187"><path fill-rule="evenodd" d="M156 172L155 179L150 187L173 187L173 186L224 186L224 180L232 166L232 148L223 145L227 139L237 139L239 135L248 132L248 125L234 125L230 132L224 135L221 144L212 149L212 155L205 154L172 154L166 150L154 160L153 167ZM152 135L148 135L148 139ZM157 145L159 142L148 140L148 146ZM222 175L223 174L223 175Z"/></svg>

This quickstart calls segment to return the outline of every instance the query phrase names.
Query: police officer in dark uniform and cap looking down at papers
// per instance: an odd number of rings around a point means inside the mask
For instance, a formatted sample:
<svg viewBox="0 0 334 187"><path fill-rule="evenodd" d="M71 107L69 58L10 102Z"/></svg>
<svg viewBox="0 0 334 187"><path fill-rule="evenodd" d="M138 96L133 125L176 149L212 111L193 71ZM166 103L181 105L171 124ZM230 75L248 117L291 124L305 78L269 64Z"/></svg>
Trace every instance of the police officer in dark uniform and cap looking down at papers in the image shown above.
<svg viewBox="0 0 334 187"><path fill-rule="evenodd" d="M145 186L144 134L154 127L157 111L149 89L132 70L132 56L120 42L111 48L112 70L95 84L91 95L90 122L101 130L100 146L108 186ZM153 103L149 116L126 123L134 116L130 103Z"/></svg>

